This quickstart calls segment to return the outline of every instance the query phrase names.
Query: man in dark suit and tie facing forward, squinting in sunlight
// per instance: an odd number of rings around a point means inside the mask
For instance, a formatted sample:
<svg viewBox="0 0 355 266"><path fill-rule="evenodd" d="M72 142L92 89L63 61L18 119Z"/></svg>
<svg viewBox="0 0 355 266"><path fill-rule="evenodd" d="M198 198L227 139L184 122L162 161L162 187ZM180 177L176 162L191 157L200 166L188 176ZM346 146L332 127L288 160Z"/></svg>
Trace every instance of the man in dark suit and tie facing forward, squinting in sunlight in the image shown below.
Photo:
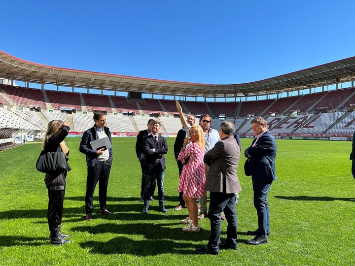
<svg viewBox="0 0 355 266"><path fill-rule="evenodd" d="M152 132L144 139L145 151L145 186L144 186L144 208L142 214L148 213L149 208L149 185L154 176L157 179L158 198L160 210L164 213L168 212L164 206L164 175L165 175L165 158L164 154L168 152L168 143L165 137L159 134L160 122L152 122Z"/></svg>

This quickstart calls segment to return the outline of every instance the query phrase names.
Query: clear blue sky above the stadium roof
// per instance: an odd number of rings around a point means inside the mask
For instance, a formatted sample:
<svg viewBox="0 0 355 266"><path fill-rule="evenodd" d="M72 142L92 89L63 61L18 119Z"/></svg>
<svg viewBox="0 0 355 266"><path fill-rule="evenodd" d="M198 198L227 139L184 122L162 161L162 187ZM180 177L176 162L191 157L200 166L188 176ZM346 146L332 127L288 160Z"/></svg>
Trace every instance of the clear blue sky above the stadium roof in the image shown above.
<svg viewBox="0 0 355 266"><path fill-rule="evenodd" d="M38 64L233 84L355 56L354 0L3 1L0 50Z"/></svg>

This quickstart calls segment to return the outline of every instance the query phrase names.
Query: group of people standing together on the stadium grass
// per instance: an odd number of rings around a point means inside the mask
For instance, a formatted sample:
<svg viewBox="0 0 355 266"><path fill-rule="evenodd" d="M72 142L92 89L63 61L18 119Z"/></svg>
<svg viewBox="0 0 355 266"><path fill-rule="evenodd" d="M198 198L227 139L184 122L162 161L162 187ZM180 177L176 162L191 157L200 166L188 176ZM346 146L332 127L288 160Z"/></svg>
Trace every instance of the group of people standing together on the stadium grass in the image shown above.
<svg viewBox="0 0 355 266"><path fill-rule="evenodd" d="M174 147L175 157L179 167L179 210L186 206L189 216L180 223L187 226L185 232L199 232L198 220L207 216L211 221L211 234L205 247L197 248L199 254L218 254L219 249L237 249L237 214L235 194L240 192L241 185L237 177L237 167L240 160L240 145L234 133L233 123L223 121L219 130L211 128L212 118L208 114L200 117L199 125L195 125L195 117L188 115L185 120L182 108L176 101L180 114L182 130L179 131ZM106 115L94 114L95 125L83 133L79 151L86 155L87 182L85 194L86 220L92 221L93 194L99 183L100 213L111 215L106 208L107 184L112 165L112 147L92 148L92 141L107 137L111 143L111 133L106 128ZM266 127L262 117L251 121L252 130L256 136L251 146L245 150L248 158L247 166L252 179L254 191L254 207L258 216L258 228L248 231L255 235L248 244L259 245L267 242L270 234L270 217L267 194L271 183L276 180L275 158L276 142ZM168 152L166 139L159 134L160 122L149 120L147 130L141 131L137 137L136 154L141 163L141 201L142 214L148 214L149 202L153 200L155 186L158 186L159 210L167 213L164 205L164 176L166 170L164 154ZM68 122L53 120L49 122L43 140L42 148L56 150L58 147L66 155L68 161L69 149L64 139L70 131ZM178 140L180 139L180 140ZM178 141L182 141L180 147ZM181 143L181 142L180 142ZM179 145L179 144L178 144ZM61 231L63 200L65 195L65 179L67 169L61 173L46 174L45 183L48 189L48 225L52 244L66 244L69 234ZM210 205L207 208L207 191L210 192ZM199 204L198 204L199 200ZM198 207L200 213L198 214ZM227 237L221 242L221 216L224 213L228 222Z"/></svg>

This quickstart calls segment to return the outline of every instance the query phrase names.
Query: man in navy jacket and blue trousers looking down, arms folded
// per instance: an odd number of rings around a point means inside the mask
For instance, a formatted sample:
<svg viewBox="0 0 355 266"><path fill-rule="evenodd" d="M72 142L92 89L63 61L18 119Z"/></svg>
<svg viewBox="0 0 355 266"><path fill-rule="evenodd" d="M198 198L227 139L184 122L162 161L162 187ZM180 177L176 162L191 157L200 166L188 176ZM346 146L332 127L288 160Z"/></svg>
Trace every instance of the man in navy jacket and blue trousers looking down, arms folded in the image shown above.
<svg viewBox="0 0 355 266"><path fill-rule="evenodd" d="M250 245L260 245L267 243L267 236L270 234L270 212L267 195L270 191L271 183L276 180L275 159L276 141L267 130L266 120L256 117L250 122L256 138L251 146L244 152L249 158L249 170L254 191L254 207L258 216L258 228L255 231L248 231L248 234L255 235L247 241Z"/></svg>

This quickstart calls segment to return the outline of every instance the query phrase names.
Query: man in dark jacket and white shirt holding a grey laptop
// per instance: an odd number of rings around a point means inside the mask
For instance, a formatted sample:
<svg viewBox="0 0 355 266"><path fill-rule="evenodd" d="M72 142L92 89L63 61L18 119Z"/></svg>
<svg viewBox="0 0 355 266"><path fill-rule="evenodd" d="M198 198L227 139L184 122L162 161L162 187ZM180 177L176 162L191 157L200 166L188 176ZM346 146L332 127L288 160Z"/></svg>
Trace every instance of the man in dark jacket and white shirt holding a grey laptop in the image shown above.
<svg viewBox="0 0 355 266"><path fill-rule="evenodd" d="M99 202L101 214L112 214L106 209L108 177L112 165L112 148L94 150L90 142L108 137L111 140L111 132L106 127L106 115L102 112L94 114L95 125L85 131L81 137L79 151L86 155L87 179L85 194L86 220L92 221L93 197L96 184L99 182Z"/></svg>

